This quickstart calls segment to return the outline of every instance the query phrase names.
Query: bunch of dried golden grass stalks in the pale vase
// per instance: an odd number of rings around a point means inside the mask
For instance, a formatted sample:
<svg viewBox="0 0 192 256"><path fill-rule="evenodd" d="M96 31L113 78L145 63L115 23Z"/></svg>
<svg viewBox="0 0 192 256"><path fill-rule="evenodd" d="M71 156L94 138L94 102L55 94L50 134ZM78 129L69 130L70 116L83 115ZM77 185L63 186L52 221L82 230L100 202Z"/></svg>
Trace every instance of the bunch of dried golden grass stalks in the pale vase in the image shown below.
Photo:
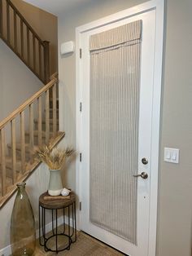
<svg viewBox="0 0 192 256"><path fill-rule="evenodd" d="M34 157L46 163L50 170L59 170L67 157L70 157L74 150L72 148L52 148L50 144L42 145L34 152Z"/></svg>

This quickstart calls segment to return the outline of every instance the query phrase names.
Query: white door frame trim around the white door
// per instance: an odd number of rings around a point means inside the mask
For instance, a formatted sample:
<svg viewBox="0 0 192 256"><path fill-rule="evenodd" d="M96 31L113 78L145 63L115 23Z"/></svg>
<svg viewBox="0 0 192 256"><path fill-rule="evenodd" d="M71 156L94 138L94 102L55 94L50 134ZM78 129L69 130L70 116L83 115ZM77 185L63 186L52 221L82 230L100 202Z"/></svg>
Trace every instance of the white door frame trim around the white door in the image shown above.
<svg viewBox="0 0 192 256"><path fill-rule="evenodd" d="M150 227L149 227L149 254L154 256L156 250L156 231L157 231L157 200L158 200L158 170L159 170L159 125L160 125L160 102L161 102L161 78L163 61L163 41L164 41L164 0L151 0L136 7L109 15L103 19L93 21L89 24L76 28L76 152L81 152L81 33L99 28L105 24L116 22L138 15L142 12L156 12L155 24L155 60L154 60L154 88L153 91L153 110L152 110L152 135L151 135L151 198L150 198ZM81 162L76 158L76 193L80 191ZM79 198L81 201L81 197ZM79 207L77 207L77 227L81 229L79 223Z"/></svg>

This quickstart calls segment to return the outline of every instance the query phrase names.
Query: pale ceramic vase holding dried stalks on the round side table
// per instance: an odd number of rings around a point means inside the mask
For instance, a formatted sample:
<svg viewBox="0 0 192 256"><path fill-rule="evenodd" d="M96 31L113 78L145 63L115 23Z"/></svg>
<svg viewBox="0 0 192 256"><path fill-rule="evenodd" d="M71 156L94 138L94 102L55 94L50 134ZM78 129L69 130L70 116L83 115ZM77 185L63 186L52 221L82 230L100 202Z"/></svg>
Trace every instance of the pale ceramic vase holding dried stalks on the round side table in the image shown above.
<svg viewBox="0 0 192 256"><path fill-rule="evenodd" d="M50 196L59 196L63 189L60 170L50 170L50 182L48 194Z"/></svg>

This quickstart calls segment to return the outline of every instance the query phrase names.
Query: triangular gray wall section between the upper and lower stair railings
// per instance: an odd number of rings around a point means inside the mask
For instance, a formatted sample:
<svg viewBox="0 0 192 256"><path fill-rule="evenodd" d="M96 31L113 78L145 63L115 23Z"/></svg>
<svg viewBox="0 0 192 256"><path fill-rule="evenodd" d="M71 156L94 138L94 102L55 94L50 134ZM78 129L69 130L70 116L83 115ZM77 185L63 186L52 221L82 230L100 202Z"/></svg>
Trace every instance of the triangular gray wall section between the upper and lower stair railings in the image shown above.
<svg viewBox="0 0 192 256"><path fill-rule="evenodd" d="M42 86L41 81L0 39L0 121Z"/></svg>

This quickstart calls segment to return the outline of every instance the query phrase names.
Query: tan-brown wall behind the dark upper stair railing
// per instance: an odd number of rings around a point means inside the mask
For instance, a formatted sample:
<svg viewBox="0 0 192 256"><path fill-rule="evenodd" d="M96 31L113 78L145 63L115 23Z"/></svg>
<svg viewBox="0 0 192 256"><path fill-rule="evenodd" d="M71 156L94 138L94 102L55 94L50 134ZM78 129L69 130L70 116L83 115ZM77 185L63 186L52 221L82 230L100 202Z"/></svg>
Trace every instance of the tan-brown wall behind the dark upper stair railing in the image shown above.
<svg viewBox="0 0 192 256"><path fill-rule="evenodd" d="M11 2L24 15L41 40L50 42L50 74L55 73L58 70L57 17L22 0L12 0Z"/></svg>

